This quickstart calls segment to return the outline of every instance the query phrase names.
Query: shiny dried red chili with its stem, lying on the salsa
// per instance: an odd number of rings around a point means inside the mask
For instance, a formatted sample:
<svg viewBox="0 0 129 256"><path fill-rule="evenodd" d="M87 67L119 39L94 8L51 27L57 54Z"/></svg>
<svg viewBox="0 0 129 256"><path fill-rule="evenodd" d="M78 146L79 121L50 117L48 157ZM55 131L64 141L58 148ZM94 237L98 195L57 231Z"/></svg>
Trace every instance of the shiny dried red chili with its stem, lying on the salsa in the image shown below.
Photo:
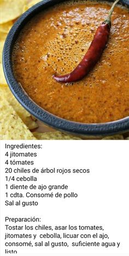
<svg viewBox="0 0 129 256"><path fill-rule="evenodd" d="M101 58L103 50L105 49L105 46L108 42L111 27L111 16L115 4L118 2L119 0L116 0L114 2L112 8L109 11L107 19L104 20L102 25L98 27L96 34L83 60L81 60L79 65L71 73L63 76L54 75L53 78L57 82L69 83L78 81L86 76L87 73L89 73L89 71L96 65L97 61Z"/></svg>

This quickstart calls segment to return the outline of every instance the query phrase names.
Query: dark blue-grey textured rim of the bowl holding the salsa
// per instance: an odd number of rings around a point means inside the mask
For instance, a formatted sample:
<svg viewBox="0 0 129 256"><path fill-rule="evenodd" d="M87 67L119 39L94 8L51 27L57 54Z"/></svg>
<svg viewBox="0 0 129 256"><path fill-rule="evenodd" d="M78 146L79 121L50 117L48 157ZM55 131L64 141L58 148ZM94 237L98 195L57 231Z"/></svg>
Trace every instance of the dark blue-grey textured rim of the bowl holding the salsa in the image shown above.
<svg viewBox="0 0 129 256"><path fill-rule="evenodd" d="M15 79L11 55L15 41L19 36L20 31L22 30L26 22L28 22L34 15L46 8L51 7L54 4L61 3L63 1L44 0L42 2L39 2L31 9L27 10L27 12L24 13L11 28L5 41L3 50L3 69L5 78L7 79L7 83L11 89L11 92L14 94L15 98L20 102L20 104L24 106L25 109L28 110L33 116L35 116L48 126L54 127L58 130L62 130L63 132L84 136L104 136L127 132L129 130L129 117L109 123L86 124L67 121L60 117L52 115L51 113L43 110L36 103L34 103L34 101L26 94L25 90ZM129 0L121 1L120 4L129 7Z"/></svg>

